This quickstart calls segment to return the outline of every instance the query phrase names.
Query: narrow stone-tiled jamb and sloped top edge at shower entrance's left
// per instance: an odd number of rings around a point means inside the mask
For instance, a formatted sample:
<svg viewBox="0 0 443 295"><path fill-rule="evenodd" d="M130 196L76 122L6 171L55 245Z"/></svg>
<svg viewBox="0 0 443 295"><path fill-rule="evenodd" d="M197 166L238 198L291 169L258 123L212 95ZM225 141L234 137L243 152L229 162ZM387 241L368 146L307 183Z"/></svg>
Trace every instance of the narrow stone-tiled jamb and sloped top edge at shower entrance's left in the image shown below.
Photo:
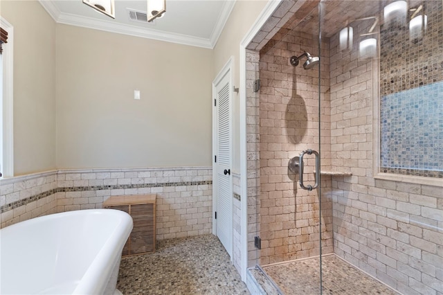
<svg viewBox="0 0 443 295"><path fill-rule="evenodd" d="M255 35L246 50L246 151L247 151L247 204L248 204L248 267L260 262L260 250L254 246L254 237L260 235L260 91L254 82L260 79L260 49L272 40L275 33L286 30L287 24L298 23L313 10L318 0L282 1L273 16Z"/></svg>

